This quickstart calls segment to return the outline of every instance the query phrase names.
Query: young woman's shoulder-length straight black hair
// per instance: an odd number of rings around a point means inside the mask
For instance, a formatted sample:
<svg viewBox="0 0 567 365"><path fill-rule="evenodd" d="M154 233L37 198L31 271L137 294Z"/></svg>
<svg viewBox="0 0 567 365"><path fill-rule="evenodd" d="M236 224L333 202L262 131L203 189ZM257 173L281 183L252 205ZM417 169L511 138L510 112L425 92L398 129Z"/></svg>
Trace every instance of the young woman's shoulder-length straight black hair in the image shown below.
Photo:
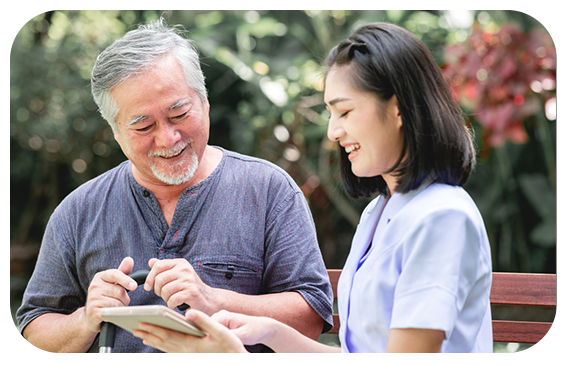
<svg viewBox="0 0 567 365"><path fill-rule="evenodd" d="M367 24L331 50L327 73L333 67L348 67L352 87L374 93L378 101L396 95L403 148L386 173L397 177L397 192L417 189L429 177L449 185L467 181L476 162L471 131L431 52L415 35L394 24ZM355 176L344 148L337 148L351 197L391 195L382 176Z"/></svg>

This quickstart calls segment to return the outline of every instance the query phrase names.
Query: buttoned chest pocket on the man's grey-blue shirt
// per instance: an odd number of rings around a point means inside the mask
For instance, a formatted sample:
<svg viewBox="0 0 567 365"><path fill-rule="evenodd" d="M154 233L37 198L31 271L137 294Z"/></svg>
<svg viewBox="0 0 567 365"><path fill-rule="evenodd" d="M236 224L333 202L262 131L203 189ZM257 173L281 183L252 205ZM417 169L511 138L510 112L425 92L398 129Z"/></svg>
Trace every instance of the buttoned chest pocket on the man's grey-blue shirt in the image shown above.
<svg viewBox="0 0 567 365"><path fill-rule="evenodd" d="M263 268L254 260L201 258L191 263L201 280L213 287L241 294L262 294Z"/></svg>

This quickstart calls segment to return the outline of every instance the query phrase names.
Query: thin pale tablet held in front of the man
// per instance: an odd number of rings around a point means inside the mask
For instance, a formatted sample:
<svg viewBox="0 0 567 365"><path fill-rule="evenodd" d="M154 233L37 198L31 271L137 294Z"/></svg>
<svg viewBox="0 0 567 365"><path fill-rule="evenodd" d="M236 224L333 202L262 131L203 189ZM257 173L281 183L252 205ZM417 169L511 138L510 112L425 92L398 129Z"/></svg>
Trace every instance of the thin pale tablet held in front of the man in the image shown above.
<svg viewBox="0 0 567 365"><path fill-rule="evenodd" d="M197 337L205 336L193 322L164 305L103 308L102 318L130 332L140 329L140 323L149 323Z"/></svg>

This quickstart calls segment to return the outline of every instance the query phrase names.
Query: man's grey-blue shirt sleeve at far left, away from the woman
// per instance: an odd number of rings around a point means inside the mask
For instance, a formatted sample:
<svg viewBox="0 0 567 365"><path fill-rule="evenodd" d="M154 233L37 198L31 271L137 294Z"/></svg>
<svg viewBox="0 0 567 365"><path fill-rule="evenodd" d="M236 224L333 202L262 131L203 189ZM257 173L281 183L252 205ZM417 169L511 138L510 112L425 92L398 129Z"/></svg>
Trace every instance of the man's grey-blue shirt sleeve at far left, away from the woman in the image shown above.
<svg viewBox="0 0 567 365"><path fill-rule="evenodd" d="M86 293L81 289L69 249L70 231L61 207L51 216L38 260L16 313L20 331L46 313L70 314L83 306Z"/></svg>

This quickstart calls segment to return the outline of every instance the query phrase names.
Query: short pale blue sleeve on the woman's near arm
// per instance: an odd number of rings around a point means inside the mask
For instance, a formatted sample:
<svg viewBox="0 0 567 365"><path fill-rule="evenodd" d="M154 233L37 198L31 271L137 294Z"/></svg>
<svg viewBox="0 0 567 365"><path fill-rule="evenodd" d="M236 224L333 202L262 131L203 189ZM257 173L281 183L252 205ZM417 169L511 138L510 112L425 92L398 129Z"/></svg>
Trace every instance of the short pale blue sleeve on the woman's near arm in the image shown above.
<svg viewBox="0 0 567 365"><path fill-rule="evenodd" d="M480 232L466 212L427 214L404 237L391 328L426 328L451 336L476 281Z"/></svg>

